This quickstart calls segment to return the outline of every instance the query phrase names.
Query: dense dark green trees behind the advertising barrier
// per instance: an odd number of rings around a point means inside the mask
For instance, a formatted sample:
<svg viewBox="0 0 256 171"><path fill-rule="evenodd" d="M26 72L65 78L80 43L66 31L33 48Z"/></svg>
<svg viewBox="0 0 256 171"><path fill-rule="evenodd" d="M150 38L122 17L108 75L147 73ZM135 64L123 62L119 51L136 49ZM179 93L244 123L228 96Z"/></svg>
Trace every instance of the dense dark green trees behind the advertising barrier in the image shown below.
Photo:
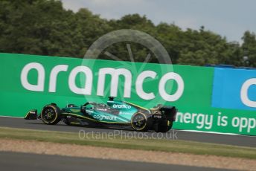
<svg viewBox="0 0 256 171"><path fill-rule="evenodd" d="M77 13L65 10L62 2L56 0L0 1L0 52L83 58L97 38L118 29L141 30L154 36L173 63L256 67L256 37L250 31L244 33L240 45L203 26L199 30L182 30L164 22L154 25L138 14L106 20L86 8ZM135 61L143 62L150 53L143 45L126 43L131 44ZM129 60L126 43L112 45L107 51ZM100 58L111 59L104 54ZM152 55L150 62L157 62L156 57Z"/></svg>

